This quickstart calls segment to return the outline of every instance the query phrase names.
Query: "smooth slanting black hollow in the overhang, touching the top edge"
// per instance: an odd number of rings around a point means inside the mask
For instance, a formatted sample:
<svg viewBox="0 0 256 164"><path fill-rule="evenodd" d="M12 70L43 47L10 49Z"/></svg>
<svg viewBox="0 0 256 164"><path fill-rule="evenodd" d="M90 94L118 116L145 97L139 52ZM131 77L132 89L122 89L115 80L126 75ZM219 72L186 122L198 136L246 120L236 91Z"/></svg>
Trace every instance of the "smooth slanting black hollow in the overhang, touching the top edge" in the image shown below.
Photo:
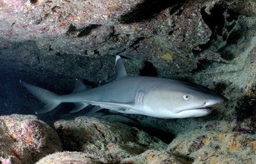
<svg viewBox="0 0 256 164"><path fill-rule="evenodd" d="M148 20L155 17L162 10L175 6L176 4L181 4L183 1L170 1L170 0L152 0L145 1L144 3L138 5L135 10L130 13L123 15L120 19L124 24L131 24L133 22L139 22L142 20Z"/></svg>

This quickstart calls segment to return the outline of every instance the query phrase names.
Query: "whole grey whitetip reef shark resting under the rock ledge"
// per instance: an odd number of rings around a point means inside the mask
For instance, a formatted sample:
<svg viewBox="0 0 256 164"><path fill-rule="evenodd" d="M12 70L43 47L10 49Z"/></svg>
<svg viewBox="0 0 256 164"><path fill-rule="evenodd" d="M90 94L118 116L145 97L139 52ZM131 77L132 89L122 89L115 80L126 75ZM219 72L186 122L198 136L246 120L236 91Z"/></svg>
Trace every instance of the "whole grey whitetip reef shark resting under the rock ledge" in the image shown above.
<svg viewBox="0 0 256 164"><path fill-rule="evenodd" d="M201 85L157 77L131 77L120 56L116 56L115 72L113 82L96 88L89 88L76 79L74 91L62 96L23 81L20 83L46 104L36 113L49 112L60 103L74 103L72 113L94 105L89 113L104 108L163 119L191 118L207 115L228 103L227 98Z"/></svg>

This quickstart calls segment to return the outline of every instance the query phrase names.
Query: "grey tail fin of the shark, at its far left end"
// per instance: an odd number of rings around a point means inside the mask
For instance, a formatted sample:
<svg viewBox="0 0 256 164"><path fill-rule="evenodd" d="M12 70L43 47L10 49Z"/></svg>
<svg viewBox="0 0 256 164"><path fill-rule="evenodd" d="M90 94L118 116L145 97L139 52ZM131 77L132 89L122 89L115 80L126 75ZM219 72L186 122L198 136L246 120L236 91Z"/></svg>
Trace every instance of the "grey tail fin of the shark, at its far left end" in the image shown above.
<svg viewBox="0 0 256 164"><path fill-rule="evenodd" d="M61 103L61 101L58 98L59 96L57 94L40 87L30 85L21 80L19 80L19 82L24 87L26 87L32 95L34 95L37 99L39 99L40 101L46 104L43 109L36 111L35 112L36 114L46 113L48 111L51 111Z"/></svg>

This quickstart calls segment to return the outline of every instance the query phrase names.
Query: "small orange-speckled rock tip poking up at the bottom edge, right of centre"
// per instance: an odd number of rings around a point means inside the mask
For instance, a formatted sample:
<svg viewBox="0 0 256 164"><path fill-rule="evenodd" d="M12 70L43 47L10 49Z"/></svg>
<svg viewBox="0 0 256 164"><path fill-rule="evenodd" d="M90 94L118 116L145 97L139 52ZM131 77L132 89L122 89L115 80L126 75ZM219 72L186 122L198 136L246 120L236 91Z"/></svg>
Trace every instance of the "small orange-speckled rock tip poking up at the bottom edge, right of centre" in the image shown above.
<svg viewBox="0 0 256 164"><path fill-rule="evenodd" d="M173 155L170 155L167 152L159 152L155 150L147 150L146 152L130 157L125 158L121 161L122 164L149 164L149 163L161 163L161 164L183 164L184 160L181 158L178 159ZM185 162L184 162L185 164Z"/></svg>

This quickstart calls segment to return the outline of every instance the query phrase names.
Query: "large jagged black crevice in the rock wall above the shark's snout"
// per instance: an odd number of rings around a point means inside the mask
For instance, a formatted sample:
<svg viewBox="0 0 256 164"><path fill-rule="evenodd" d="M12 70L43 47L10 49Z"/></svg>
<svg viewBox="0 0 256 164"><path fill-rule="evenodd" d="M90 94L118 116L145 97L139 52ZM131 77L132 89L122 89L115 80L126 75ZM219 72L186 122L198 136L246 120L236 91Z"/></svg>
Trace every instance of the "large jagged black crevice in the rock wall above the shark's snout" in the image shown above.
<svg viewBox="0 0 256 164"><path fill-rule="evenodd" d="M240 14L216 5L210 10L210 15L205 12L205 8L202 8L201 15L212 34L208 42L199 45L199 49L192 50L194 56L198 57L203 51L210 50L220 54L225 60L232 60L234 55L228 49L228 46L236 44L245 35L243 31L246 31L245 26L242 25L238 30L234 30L234 27L238 24ZM198 67L192 73L206 69L212 62L207 59L199 60Z"/></svg>

